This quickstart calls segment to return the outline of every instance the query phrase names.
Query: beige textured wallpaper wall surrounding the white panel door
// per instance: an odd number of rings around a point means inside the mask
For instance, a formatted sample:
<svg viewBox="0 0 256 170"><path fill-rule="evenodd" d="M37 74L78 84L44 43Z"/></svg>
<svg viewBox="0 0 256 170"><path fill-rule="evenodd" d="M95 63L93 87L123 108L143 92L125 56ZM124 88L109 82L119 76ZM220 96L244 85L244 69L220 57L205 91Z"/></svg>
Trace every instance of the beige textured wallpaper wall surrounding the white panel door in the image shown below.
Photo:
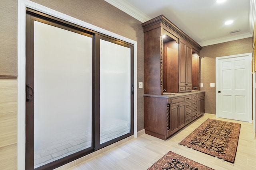
<svg viewBox="0 0 256 170"><path fill-rule="evenodd" d="M215 87L210 83L215 82L215 59L216 57L252 53L252 37L229 41L226 43L208 45L200 52L201 68L200 82L204 83L201 90L205 90L205 112L215 114Z"/></svg>

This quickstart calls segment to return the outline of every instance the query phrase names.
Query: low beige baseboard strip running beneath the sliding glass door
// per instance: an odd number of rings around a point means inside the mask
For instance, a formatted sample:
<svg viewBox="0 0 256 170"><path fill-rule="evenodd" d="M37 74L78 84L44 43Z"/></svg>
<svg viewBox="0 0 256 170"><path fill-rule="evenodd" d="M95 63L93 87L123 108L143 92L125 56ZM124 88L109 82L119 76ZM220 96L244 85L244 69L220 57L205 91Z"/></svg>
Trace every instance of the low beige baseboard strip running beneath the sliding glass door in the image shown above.
<svg viewBox="0 0 256 170"><path fill-rule="evenodd" d="M84 161L86 161L86 160L88 160L90 158L93 158L93 157L95 157L95 156L97 156L99 154L102 154L103 152L106 152L107 150L110 150L110 149L112 149L114 147L117 147L118 145L126 143L127 141L130 141L132 139L134 139L134 135L132 135L130 137L127 137L127 138L125 138L125 139L123 139L121 141L118 141L116 143L113 143L112 145L104 147L104 148L102 148L100 150L92 152L92 153L90 153L90 154L88 154L86 156L83 156L82 158L78 158L78 159L76 159L76 160L74 160L72 162L69 162L69 163L67 163L65 165L62 165L62 166L56 168L55 170L67 170L69 168L72 168L73 166L76 166L76 165L78 165L78 164L80 164L80 163L82 163L82 162L84 162Z"/></svg>

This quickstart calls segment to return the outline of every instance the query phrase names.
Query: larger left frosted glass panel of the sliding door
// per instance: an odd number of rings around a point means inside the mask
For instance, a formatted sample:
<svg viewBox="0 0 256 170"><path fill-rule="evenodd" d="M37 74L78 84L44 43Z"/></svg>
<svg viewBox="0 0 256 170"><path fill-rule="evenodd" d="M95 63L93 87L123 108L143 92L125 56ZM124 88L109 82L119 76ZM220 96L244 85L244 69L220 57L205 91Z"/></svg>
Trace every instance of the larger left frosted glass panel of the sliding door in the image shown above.
<svg viewBox="0 0 256 170"><path fill-rule="evenodd" d="M92 38L34 22L34 167L92 146Z"/></svg>

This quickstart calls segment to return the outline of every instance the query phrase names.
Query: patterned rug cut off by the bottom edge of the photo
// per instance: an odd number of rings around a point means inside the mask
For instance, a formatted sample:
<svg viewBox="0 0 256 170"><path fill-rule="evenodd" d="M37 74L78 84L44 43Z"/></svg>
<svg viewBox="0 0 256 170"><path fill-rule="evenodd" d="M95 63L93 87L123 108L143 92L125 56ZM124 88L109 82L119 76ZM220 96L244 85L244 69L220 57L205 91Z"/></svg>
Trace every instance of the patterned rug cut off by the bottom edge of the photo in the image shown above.
<svg viewBox="0 0 256 170"><path fill-rule="evenodd" d="M214 170L193 160L168 152L148 170Z"/></svg>

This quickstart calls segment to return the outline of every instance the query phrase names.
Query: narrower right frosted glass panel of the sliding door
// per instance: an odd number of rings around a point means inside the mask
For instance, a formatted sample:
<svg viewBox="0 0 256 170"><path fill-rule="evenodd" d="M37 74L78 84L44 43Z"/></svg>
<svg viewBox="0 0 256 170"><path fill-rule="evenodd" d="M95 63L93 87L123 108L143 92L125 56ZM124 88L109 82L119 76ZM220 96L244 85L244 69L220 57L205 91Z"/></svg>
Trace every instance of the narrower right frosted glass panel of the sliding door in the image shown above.
<svg viewBox="0 0 256 170"><path fill-rule="evenodd" d="M100 144L130 133L130 48L100 40Z"/></svg>

